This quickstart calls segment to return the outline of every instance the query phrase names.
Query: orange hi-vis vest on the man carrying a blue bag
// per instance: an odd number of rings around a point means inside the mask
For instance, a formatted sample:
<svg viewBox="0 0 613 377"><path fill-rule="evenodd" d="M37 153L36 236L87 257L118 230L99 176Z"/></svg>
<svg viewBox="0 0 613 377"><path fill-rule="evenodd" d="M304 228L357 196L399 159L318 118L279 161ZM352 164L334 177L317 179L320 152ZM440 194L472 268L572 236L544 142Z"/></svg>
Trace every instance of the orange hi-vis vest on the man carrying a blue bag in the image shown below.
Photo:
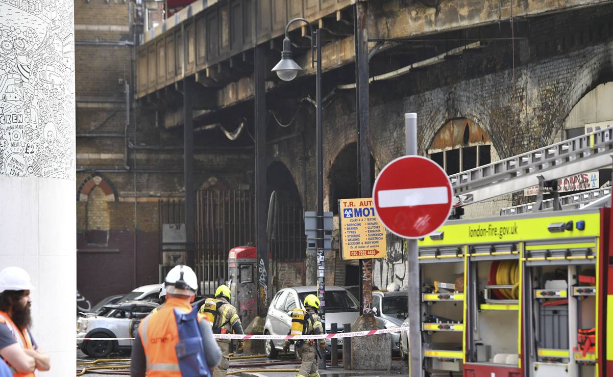
<svg viewBox="0 0 613 377"><path fill-rule="evenodd" d="M155 315L148 315L139 326L140 342L147 359L147 377L181 377L175 346L179 341L175 308L189 313L191 305L185 299L170 297ZM199 321L204 316L199 315Z"/></svg>

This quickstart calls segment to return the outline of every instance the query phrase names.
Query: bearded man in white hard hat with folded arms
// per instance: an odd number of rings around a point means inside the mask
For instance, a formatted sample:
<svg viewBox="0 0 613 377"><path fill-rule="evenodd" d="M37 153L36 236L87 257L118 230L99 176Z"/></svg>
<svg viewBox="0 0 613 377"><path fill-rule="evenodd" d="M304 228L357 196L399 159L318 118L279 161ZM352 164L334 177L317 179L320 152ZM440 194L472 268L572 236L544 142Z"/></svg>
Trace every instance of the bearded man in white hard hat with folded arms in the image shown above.
<svg viewBox="0 0 613 377"><path fill-rule="evenodd" d="M42 353L29 331L30 275L20 267L0 271L0 356L13 377L34 377L34 370L50 368L49 356Z"/></svg>

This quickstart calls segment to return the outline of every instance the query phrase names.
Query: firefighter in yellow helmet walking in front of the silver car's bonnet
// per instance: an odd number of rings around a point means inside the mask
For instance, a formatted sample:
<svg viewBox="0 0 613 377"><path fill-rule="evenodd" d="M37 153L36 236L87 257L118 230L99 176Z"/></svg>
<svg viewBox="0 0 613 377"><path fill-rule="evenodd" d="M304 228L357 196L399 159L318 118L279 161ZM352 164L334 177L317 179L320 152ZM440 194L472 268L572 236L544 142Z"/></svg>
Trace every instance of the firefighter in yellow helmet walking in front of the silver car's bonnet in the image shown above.
<svg viewBox="0 0 613 377"><path fill-rule="evenodd" d="M314 294L309 294L305 297L304 307L295 308L292 312L292 327L290 329L291 335L320 335L324 334L323 326L321 326L321 319L317 314L319 305L321 302ZM285 341L283 351L289 351L290 340ZM302 359L300 364L300 371L297 377L319 377L319 371L317 370L317 359L315 353L315 340L297 340L295 341L295 348L298 350L298 355ZM322 349L322 354L325 355L326 340L319 339L319 348Z"/></svg>

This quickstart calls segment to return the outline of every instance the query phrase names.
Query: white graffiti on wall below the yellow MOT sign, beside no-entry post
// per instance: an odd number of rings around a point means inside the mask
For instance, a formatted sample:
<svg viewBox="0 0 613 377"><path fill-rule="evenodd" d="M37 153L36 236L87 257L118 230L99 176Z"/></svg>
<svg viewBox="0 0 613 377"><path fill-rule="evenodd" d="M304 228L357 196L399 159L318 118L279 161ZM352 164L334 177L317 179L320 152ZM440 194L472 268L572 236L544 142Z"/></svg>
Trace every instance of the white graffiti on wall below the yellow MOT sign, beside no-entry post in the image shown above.
<svg viewBox="0 0 613 377"><path fill-rule="evenodd" d="M394 235L388 235L387 258L375 259L373 285L385 289L389 284L394 283L402 288L406 285L408 269L406 241Z"/></svg>

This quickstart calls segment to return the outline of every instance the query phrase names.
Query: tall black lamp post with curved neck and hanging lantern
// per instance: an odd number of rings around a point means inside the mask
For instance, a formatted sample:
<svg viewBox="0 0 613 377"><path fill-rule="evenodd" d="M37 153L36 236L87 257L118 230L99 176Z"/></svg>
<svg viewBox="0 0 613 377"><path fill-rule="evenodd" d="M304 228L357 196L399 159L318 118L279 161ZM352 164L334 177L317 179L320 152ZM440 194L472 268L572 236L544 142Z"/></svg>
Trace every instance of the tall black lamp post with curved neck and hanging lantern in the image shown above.
<svg viewBox="0 0 613 377"><path fill-rule="evenodd" d="M324 293L326 285L324 283L324 160L322 157L323 141L322 141L322 129L321 129L321 29L313 31L311 24L304 18L294 18L289 21L285 26L285 38L283 39L283 51L281 52L281 61L279 61L272 69L276 72L277 76L283 81L292 81L302 71L302 67L296 64L292 59L292 45L289 40L289 26L301 21L308 25L311 31L311 67L314 67L317 62L317 87L316 87L316 110L317 110L317 260L318 260L318 296L321 300L321 307L319 308L319 314L322 321L326 321L324 308L326 306L326 300L324 299ZM313 44L314 42L314 44ZM317 58L315 58L315 50ZM324 365L325 365L324 360Z"/></svg>

